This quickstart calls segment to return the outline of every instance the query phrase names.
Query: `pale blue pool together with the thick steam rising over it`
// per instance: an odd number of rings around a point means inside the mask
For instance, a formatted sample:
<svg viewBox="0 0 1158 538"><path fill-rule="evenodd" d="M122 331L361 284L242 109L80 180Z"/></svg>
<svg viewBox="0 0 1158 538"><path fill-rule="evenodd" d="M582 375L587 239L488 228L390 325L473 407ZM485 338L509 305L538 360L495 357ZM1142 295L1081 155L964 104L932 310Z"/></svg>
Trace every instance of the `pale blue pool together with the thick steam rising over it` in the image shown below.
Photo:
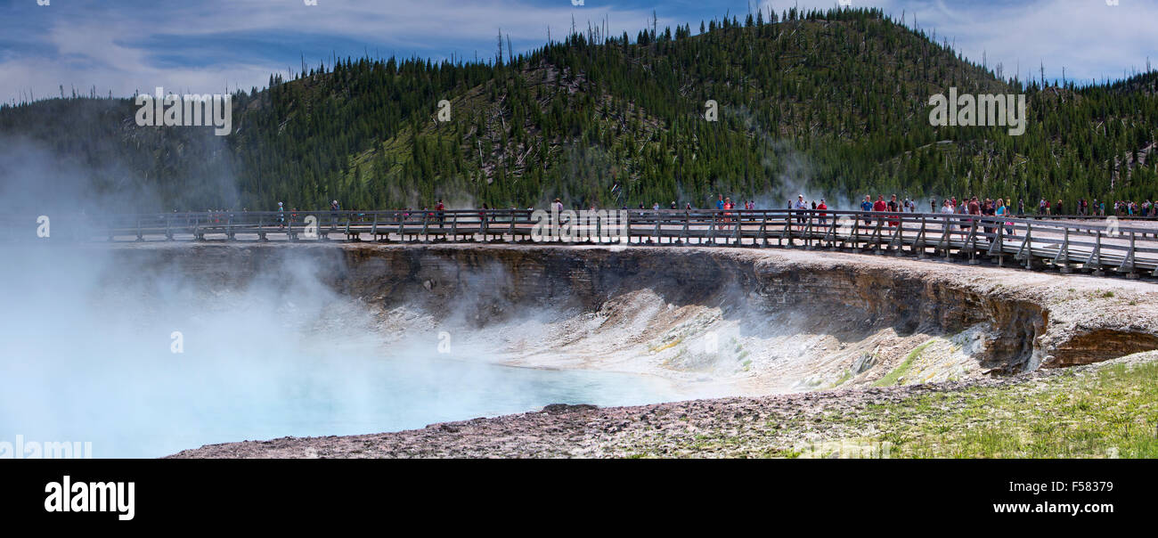
<svg viewBox="0 0 1158 538"><path fill-rule="evenodd" d="M398 338L320 285L325 267L313 263L290 259L237 283L93 251L16 250L2 274L12 303L0 329L0 441L156 457L683 396L654 376L514 368L457 344L438 353L438 332Z"/></svg>

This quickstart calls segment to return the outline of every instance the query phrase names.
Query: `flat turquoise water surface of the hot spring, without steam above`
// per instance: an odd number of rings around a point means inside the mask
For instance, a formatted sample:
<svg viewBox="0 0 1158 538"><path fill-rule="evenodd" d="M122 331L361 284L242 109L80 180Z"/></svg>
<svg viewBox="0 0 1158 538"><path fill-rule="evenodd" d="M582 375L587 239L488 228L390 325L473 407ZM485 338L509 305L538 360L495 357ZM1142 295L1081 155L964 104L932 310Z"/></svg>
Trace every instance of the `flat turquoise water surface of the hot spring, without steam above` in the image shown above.
<svg viewBox="0 0 1158 538"><path fill-rule="evenodd" d="M21 434L42 442L91 442L98 458L156 457L230 441L422 428L554 403L681 399L669 383L651 376L383 356L368 339L323 344L324 352L296 355L186 348L169 356L98 351L81 363L72 360L75 354L41 355L35 367L6 360L0 441L15 443Z"/></svg>

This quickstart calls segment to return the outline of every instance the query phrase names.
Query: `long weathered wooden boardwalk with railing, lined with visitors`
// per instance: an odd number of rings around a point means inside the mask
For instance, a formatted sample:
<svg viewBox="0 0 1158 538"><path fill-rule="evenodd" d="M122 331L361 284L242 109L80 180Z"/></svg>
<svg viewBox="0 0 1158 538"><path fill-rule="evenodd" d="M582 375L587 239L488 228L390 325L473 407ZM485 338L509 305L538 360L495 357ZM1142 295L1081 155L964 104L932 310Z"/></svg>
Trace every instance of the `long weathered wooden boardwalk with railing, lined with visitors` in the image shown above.
<svg viewBox="0 0 1158 538"><path fill-rule="evenodd" d="M1026 268L1080 270L1097 275L1109 272L1128 278L1158 277L1158 226L1124 218L1121 221L1086 218L1085 222L1061 222L1036 218L814 209L624 209L608 213L623 219L572 222L572 231L580 230L580 241L557 234L544 237L541 234L544 213L532 209L66 215L51 221L50 238L779 246L940 257L972 264L985 260ZM22 222L8 222L5 236L36 239L36 218Z"/></svg>

